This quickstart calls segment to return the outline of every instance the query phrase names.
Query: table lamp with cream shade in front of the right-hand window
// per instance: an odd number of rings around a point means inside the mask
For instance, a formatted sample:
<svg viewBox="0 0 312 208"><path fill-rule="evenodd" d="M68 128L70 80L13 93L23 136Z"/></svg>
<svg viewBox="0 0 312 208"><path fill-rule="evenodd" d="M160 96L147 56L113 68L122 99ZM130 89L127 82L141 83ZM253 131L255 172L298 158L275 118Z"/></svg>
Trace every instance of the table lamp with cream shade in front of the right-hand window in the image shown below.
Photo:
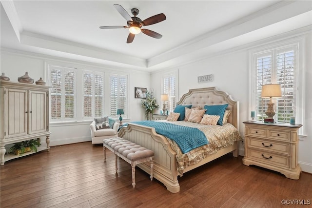
<svg viewBox="0 0 312 208"><path fill-rule="evenodd" d="M270 102L267 104L267 111L265 112L268 116L268 118L264 119L265 123L274 123L273 116L275 115L275 111L274 104L272 103L272 97L282 97L280 84L266 84L262 86L261 98L270 98Z"/></svg>

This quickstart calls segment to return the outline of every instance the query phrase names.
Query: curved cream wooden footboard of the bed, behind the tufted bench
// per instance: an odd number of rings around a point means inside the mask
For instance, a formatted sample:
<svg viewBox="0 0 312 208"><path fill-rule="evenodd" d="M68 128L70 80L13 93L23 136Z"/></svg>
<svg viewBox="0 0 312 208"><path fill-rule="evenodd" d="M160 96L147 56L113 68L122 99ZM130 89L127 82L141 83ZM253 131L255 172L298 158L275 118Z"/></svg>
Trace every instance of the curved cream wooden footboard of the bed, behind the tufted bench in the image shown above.
<svg viewBox="0 0 312 208"><path fill-rule="evenodd" d="M177 180L176 152L171 148L170 143L164 136L156 133L155 128L128 124L127 127L120 130L118 136L153 150L155 153L154 178L162 182L170 192L180 191ZM150 162L138 164L137 166L150 173Z"/></svg>

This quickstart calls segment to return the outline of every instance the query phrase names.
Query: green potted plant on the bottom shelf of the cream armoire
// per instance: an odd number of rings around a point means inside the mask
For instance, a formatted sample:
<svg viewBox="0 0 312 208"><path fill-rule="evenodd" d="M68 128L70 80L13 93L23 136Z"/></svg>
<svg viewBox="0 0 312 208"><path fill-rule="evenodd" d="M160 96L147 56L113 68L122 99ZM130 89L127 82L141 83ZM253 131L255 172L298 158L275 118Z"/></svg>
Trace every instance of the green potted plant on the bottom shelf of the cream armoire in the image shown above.
<svg viewBox="0 0 312 208"><path fill-rule="evenodd" d="M37 146L40 146L38 139L31 139L27 141L17 142L10 148L10 151L16 155L23 155L25 152L33 151L37 152Z"/></svg>

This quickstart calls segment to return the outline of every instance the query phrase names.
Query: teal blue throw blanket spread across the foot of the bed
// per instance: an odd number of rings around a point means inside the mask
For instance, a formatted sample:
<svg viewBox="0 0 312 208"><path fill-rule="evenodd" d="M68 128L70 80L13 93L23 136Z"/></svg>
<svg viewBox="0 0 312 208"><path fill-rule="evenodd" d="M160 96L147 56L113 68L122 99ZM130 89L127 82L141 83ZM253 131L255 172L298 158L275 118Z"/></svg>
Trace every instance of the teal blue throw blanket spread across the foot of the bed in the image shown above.
<svg viewBox="0 0 312 208"><path fill-rule="evenodd" d="M154 127L157 134L161 134L175 141L183 154L196 147L208 144L204 132L197 128L155 121L139 121L131 123ZM128 124L124 124L123 126L127 125Z"/></svg>

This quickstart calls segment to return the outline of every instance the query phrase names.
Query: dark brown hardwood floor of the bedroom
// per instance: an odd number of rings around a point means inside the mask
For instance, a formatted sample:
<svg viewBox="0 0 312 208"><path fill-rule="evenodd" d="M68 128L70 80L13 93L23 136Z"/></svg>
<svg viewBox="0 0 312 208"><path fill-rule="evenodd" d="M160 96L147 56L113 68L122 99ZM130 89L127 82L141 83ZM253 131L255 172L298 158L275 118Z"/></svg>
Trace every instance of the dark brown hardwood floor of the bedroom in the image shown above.
<svg viewBox="0 0 312 208"><path fill-rule="evenodd" d="M312 174L291 180L241 160L228 154L187 172L179 178L180 192L173 194L139 168L133 188L131 166L119 159L115 174L115 155L107 151L104 163L101 145L54 146L0 167L0 207L312 207Z"/></svg>

